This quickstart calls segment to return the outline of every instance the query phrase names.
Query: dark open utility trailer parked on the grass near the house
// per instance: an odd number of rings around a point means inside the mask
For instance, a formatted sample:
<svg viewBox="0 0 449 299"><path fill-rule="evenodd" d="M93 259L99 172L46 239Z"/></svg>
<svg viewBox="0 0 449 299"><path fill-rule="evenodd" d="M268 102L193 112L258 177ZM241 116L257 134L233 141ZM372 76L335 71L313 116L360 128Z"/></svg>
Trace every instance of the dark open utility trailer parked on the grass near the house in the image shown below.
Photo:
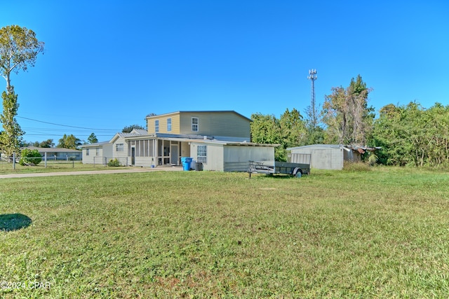
<svg viewBox="0 0 449 299"><path fill-rule="evenodd" d="M310 174L310 154L296 154L302 155L295 157L295 160L300 160L301 163L293 162L279 162L274 161L274 165L267 165L265 162L250 161L248 173L250 174L290 174L300 178L302 174Z"/></svg>

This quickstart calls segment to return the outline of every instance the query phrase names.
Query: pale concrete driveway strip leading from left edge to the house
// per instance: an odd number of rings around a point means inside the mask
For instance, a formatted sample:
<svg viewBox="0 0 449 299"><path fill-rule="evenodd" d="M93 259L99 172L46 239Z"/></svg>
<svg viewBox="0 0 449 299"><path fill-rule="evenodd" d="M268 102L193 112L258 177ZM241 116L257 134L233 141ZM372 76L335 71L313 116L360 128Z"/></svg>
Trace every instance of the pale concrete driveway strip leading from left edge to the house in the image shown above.
<svg viewBox="0 0 449 299"><path fill-rule="evenodd" d="M135 167L126 169L85 170L78 172L35 172L29 174L0 174L0 179L28 178L36 176L77 176L81 174L124 174L129 172L179 172L182 167Z"/></svg>

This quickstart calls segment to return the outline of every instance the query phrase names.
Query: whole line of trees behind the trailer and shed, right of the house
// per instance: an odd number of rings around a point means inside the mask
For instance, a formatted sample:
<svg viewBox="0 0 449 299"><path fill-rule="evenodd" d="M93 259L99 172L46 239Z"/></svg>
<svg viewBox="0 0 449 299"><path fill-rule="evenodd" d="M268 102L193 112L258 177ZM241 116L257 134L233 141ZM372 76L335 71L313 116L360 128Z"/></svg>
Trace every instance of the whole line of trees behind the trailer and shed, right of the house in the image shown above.
<svg viewBox="0 0 449 299"><path fill-rule="evenodd" d="M420 103L388 104L376 118L368 106L366 87L360 75L349 86L331 88L326 95L316 125L299 111L286 111L280 118L254 113L251 116L253 142L279 144L276 160L285 161L286 148L311 144L345 144L380 147L364 159L382 165L417 167L449 166L449 106L440 103L425 109Z"/></svg>

